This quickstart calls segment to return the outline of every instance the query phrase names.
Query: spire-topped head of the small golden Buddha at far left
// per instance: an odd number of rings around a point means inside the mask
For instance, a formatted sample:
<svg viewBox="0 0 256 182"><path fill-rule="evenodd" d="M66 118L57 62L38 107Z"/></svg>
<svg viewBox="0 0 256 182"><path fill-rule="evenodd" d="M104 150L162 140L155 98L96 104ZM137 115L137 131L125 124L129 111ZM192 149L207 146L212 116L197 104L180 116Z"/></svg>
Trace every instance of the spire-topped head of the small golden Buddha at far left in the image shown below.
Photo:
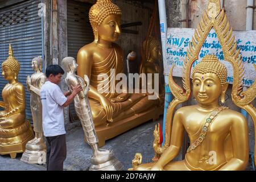
<svg viewBox="0 0 256 182"><path fill-rule="evenodd" d="M20 64L13 56L11 44L9 46L9 57L2 63L2 76L7 81L17 80L19 74Z"/></svg>

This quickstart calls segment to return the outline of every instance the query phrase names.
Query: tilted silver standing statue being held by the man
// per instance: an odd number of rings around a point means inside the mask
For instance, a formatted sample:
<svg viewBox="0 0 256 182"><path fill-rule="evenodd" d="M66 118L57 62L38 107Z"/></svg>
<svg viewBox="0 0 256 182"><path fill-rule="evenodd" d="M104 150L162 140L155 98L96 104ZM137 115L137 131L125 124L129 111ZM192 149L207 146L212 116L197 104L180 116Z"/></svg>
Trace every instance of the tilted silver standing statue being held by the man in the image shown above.
<svg viewBox="0 0 256 182"><path fill-rule="evenodd" d="M89 78L84 75L84 80L76 75L77 64L73 57L65 57L62 61L63 67L67 72L65 82L69 89L73 91L73 87L81 84L82 91L76 95L74 99L76 114L79 117L84 130L85 139L93 149L93 156L91 159L92 165L90 170L92 171L106 171L106 170L121 170L122 164L115 158L112 151L100 150L98 148L98 138L94 128L92 111L90 109L88 91L89 91Z"/></svg>

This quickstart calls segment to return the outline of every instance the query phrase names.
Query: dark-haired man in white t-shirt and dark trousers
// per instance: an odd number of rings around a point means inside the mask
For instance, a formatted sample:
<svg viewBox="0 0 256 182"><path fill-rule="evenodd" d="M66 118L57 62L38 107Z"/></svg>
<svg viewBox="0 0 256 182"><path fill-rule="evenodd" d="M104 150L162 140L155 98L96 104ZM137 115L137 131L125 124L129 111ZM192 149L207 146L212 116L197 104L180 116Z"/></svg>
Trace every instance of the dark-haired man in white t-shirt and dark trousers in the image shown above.
<svg viewBox="0 0 256 182"><path fill-rule="evenodd" d="M46 68L47 81L40 90L43 131L47 139L47 171L63 171L63 162L67 156L63 108L71 104L76 94L82 90L82 86L77 85L73 87L72 93L63 93L57 85L63 74L59 65L49 65Z"/></svg>

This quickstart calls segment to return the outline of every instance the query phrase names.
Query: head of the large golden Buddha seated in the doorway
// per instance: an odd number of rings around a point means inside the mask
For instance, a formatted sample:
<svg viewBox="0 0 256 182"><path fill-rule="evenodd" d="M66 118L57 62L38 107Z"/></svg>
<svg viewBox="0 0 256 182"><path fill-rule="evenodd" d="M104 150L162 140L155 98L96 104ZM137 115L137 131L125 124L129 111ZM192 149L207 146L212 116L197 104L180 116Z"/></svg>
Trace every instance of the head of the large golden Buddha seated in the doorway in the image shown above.
<svg viewBox="0 0 256 182"><path fill-rule="evenodd" d="M94 42L98 42L99 39L106 42L117 41L121 34L121 15L121 10L112 0L97 0L89 11Z"/></svg>

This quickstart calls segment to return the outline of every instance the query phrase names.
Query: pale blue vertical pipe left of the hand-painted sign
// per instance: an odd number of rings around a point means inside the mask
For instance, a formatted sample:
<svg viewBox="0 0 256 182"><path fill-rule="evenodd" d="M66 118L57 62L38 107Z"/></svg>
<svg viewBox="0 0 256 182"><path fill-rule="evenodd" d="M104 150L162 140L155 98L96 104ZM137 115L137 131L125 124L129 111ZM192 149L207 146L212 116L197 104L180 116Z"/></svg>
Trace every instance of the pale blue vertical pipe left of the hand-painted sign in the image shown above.
<svg viewBox="0 0 256 182"><path fill-rule="evenodd" d="M159 9L159 20L160 20L160 32L161 32L161 40L162 40L162 55L163 62L166 60L166 35L167 35L167 19L166 19L166 1L158 0L158 9ZM165 82L165 102L164 102L164 116L163 116L163 143L165 140L165 130L166 130L166 113L167 107L171 102L171 91L168 83L168 76L164 76Z"/></svg>

